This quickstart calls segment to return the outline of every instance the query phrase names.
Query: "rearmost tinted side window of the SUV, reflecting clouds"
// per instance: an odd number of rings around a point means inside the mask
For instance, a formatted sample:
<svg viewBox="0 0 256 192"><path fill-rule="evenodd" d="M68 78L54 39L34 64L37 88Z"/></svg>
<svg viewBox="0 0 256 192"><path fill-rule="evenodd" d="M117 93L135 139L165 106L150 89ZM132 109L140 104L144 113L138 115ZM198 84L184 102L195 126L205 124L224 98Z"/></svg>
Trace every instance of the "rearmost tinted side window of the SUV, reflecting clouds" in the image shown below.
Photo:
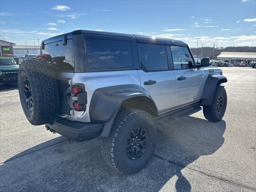
<svg viewBox="0 0 256 192"><path fill-rule="evenodd" d="M130 42L92 39L90 43L93 68L127 68L133 66Z"/></svg>

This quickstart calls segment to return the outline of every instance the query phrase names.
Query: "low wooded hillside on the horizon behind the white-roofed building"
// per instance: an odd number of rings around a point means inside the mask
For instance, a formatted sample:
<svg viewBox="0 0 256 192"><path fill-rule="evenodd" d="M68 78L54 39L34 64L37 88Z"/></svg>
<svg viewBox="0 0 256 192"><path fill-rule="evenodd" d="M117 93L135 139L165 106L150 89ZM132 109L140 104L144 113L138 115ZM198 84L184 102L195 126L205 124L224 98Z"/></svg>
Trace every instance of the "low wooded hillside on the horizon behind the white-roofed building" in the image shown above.
<svg viewBox="0 0 256 192"><path fill-rule="evenodd" d="M197 48L191 48L191 51L194 57L197 57ZM203 47L202 58L210 57L212 59L212 47ZM218 48L214 49L214 59L217 59L217 56L220 55L221 52L256 52L256 47L226 47L226 48ZM201 57L201 47L198 47L198 58Z"/></svg>

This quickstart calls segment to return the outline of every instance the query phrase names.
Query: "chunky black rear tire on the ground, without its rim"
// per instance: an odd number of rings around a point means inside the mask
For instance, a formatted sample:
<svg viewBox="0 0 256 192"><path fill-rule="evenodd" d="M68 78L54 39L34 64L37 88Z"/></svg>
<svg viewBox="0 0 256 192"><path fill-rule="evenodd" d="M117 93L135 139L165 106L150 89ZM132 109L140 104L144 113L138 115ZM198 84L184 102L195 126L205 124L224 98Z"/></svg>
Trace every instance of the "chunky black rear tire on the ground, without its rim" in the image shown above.
<svg viewBox="0 0 256 192"><path fill-rule="evenodd" d="M126 144L133 128L138 126L146 128L148 142L142 156L131 159L126 154ZM116 115L108 138L102 140L102 154L108 166L114 170L121 174L134 174L148 164L156 143L157 131L152 116L143 110L124 109Z"/></svg>

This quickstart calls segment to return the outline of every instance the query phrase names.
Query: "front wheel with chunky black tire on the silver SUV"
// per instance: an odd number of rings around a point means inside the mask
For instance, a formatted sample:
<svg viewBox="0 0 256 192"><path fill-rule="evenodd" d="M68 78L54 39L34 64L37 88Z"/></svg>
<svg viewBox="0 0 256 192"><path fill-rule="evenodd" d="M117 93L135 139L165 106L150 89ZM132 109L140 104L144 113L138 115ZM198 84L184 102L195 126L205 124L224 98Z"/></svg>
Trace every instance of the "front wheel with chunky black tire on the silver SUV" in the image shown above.
<svg viewBox="0 0 256 192"><path fill-rule="evenodd" d="M222 111L218 112L218 99L220 99L221 97L223 97L224 102L222 105ZM203 106L204 117L209 121L218 122L223 118L225 111L226 111L226 107L227 107L226 90L225 90L224 86L218 85L214 92L212 104L209 106Z"/></svg>

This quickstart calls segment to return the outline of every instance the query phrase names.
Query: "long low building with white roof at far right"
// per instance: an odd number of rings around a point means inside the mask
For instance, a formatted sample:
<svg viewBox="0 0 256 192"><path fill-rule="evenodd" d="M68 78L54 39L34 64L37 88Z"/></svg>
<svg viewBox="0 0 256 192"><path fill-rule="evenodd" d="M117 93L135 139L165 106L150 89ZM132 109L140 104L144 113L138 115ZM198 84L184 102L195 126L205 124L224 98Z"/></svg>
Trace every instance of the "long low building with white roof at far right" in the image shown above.
<svg viewBox="0 0 256 192"><path fill-rule="evenodd" d="M234 65L238 65L240 62L249 64L251 61L256 61L256 52L221 52L217 58Z"/></svg>

